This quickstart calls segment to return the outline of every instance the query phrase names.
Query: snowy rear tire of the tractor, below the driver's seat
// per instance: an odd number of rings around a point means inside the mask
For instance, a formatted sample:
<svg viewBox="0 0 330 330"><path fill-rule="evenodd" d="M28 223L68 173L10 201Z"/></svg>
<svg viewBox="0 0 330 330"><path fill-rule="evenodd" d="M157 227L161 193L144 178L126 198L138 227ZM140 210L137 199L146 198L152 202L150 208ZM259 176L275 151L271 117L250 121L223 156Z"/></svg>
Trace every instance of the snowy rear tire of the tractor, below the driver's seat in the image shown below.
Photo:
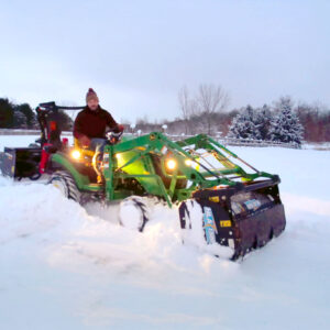
<svg viewBox="0 0 330 330"><path fill-rule="evenodd" d="M63 195L80 204L81 193L79 191L74 177L66 170L56 170L48 182L58 188Z"/></svg>

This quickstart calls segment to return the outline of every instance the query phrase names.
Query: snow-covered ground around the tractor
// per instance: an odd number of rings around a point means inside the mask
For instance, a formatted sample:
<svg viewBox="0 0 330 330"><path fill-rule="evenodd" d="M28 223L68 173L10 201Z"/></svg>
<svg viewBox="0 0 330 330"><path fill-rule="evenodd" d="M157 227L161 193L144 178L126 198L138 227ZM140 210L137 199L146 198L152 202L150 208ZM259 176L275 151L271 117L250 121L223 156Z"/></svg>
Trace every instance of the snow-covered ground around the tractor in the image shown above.
<svg viewBox="0 0 330 330"><path fill-rule="evenodd" d="M0 136L0 150L34 136ZM243 262L182 244L177 210L144 233L0 178L1 329L330 329L330 152L233 147L280 175L287 229Z"/></svg>

